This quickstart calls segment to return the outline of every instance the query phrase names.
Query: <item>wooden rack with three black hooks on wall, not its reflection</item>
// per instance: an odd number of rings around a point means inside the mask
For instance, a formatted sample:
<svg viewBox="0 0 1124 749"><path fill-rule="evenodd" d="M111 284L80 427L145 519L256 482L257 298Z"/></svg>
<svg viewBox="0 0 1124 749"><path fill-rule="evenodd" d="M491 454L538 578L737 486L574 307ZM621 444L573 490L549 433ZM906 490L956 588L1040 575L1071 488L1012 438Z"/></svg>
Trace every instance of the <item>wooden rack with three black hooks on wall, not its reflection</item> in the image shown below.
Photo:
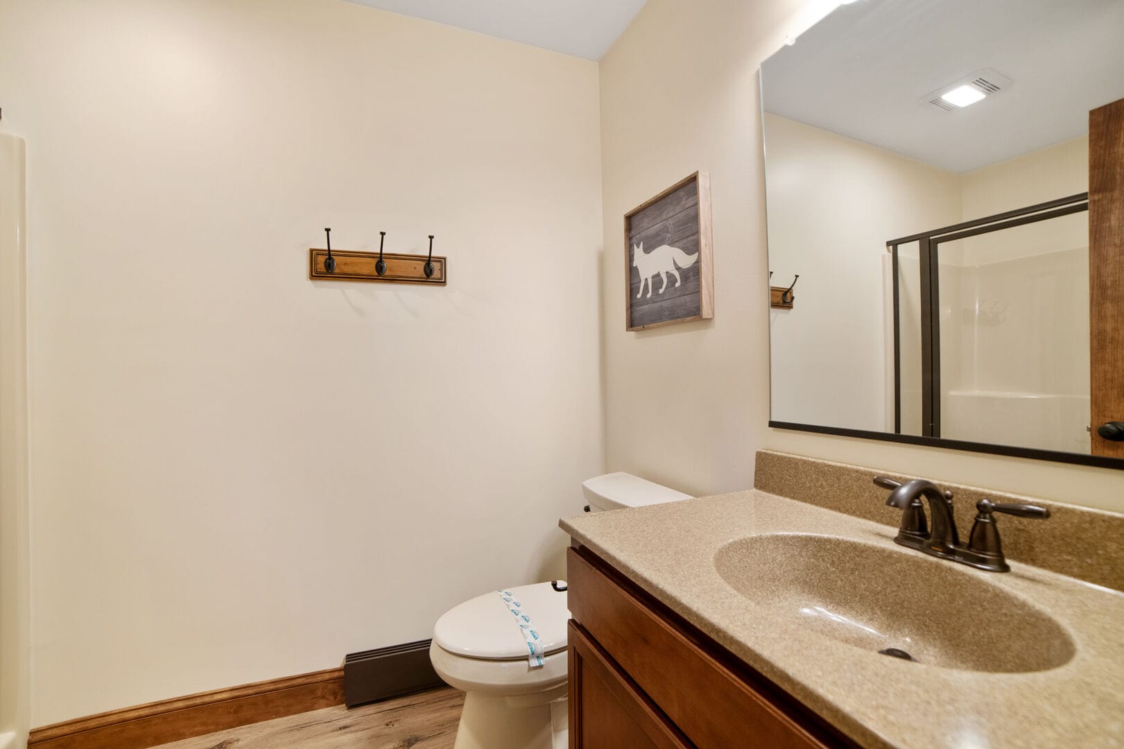
<svg viewBox="0 0 1124 749"><path fill-rule="evenodd" d="M309 247L308 278L316 281L380 281L384 283L446 283L446 259L433 254L429 235L428 255L383 252L386 232L379 232L379 252L333 250L332 229L325 228L324 250Z"/></svg>

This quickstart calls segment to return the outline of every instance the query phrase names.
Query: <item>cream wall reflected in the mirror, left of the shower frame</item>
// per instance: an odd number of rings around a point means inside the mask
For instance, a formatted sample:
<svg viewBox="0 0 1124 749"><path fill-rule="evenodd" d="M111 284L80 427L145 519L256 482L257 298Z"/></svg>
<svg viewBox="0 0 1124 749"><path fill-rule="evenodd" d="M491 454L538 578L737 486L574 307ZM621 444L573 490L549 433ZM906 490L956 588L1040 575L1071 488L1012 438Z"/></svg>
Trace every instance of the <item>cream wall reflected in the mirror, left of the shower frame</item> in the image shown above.
<svg viewBox="0 0 1124 749"><path fill-rule="evenodd" d="M778 115L764 115L764 136L769 245L783 247L771 283L800 274L799 303L769 313L773 418L881 432L894 389L886 242L959 223L960 178Z"/></svg>

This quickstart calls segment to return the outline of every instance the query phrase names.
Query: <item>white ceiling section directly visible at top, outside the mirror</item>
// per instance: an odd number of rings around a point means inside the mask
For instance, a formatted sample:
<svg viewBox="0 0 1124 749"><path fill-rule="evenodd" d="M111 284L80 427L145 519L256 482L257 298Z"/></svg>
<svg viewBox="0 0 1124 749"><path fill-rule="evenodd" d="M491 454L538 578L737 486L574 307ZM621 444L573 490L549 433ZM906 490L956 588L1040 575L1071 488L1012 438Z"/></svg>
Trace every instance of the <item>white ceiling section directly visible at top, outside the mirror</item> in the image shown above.
<svg viewBox="0 0 1124 749"><path fill-rule="evenodd" d="M522 42L568 55L600 60L647 0L351 0Z"/></svg>

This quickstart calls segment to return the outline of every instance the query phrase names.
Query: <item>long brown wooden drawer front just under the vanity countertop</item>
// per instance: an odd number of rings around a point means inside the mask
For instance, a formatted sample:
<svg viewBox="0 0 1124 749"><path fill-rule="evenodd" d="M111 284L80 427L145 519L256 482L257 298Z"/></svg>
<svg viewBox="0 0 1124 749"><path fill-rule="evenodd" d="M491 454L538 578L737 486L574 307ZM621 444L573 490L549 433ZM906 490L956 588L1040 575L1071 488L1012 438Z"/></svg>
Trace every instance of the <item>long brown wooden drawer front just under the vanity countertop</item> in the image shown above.
<svg viewBox="0 0 1124 749"><path fill-rule="evenodd" d="M854 746L588 549L568 579L573 620L700 749Z"/></svg>

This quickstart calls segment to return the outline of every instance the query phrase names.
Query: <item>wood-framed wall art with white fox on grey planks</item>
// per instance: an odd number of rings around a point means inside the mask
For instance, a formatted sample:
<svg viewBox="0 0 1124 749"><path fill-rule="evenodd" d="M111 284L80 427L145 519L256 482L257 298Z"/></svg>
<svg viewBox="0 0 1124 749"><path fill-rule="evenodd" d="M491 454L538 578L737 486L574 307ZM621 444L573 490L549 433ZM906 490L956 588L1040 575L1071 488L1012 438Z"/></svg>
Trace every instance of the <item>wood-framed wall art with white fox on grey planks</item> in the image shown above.
<svg viewBox="0 0 1124 749"><path fill-rule="evenodd" d="M695 172L625 215L625 328L714 317L710 175Z"/></svg>

